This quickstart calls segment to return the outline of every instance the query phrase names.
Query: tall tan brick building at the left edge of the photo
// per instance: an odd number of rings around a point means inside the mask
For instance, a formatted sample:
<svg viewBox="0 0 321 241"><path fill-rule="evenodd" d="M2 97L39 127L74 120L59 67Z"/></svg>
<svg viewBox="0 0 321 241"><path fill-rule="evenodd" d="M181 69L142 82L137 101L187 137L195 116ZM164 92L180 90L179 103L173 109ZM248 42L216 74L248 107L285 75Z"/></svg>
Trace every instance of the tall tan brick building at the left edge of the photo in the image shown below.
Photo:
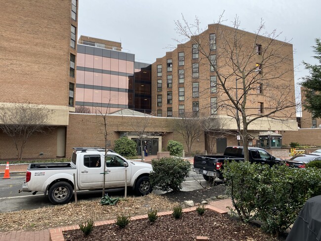
<svg viewBox="0 0 321 241"><path fill-rule="evenodd" d="M54 128L39 142L31 140L26 156L38 157L44 149L47 156L65 156L69 112L75 110L78 1L3 0L0 9L0 106L30 103L52 110L48 124ZM0 137L1 147L11 143ZM1 148L0 158L8 157L15 157L14 150Z"/></svg>

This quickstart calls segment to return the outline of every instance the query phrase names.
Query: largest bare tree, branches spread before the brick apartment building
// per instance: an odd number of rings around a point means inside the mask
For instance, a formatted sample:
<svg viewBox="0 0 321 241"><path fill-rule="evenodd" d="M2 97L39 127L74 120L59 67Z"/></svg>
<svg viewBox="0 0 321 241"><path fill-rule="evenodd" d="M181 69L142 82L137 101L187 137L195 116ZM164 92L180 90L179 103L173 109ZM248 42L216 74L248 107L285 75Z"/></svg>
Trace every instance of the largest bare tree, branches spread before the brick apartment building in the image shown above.
<svg viewBox="0 0 321 241"><path fill-rule="evenodd" d="M254 34L240 30L238 17L233 28L221 22L211 25L209 33L201 29L198 18L189 24L183 17L175 22L177 33L184 38L177 41L190 48L197 44L200 69L208 68L206 73L200 72L199 82L209 83L209 72L217 81L217 101L207 108L216 108L217 112L211 113L235 120L248 160L248 140L252 138L248 130L261 129L258 119L282 124L295 121L293 49L286 40L277 40L280 34L276 31L264 33L262 21ZM213 38L209 34L214 34ZM202 91L210 93L210 88L208 84Z"/></svg>

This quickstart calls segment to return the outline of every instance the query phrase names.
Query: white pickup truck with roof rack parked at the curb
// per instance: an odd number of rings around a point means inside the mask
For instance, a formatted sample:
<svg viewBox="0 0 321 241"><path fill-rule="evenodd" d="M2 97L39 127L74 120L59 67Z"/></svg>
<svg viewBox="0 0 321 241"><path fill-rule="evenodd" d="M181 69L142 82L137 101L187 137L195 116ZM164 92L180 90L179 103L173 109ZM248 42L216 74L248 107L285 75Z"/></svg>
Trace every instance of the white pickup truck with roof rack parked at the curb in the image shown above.
<svg viewBox="0 0 321 241"><path fill-rule="evenodd" d="M99 148L74 148L72 162L31 163L26 172L23 192L48 192L53 204L64 204L70 201L73 190L99 190L103 188L105 160L105 188L125 186L125 169L127 186L135 189L138 195L152 192L149 174L152 165L144 162L128 161L119 154ZM76 174L76 185L74 183ZM34 193L34 194L35 194Z"/></svg>

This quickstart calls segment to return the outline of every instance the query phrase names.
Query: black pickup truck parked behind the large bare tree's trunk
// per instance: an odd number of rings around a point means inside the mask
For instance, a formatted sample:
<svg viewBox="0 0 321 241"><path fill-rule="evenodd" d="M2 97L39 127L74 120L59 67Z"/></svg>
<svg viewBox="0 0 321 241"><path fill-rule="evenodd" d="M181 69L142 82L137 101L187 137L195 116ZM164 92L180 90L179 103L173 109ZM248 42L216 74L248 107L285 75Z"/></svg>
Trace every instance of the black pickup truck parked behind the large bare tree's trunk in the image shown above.
<svg viewBox="0 0 321 241"><path fill-rule="evenodd" d="M267 151L258 147L249 147L249 161L251 163L268 164L271 166L275 164L282 164L279 158L271 156ZM223 156L212 155L197 155L194 157L193 171L202 174L204 179L208 181L210 178L224 179L221 169L224 161L244 161L243 147L231 146L225 149Z"/></svg>

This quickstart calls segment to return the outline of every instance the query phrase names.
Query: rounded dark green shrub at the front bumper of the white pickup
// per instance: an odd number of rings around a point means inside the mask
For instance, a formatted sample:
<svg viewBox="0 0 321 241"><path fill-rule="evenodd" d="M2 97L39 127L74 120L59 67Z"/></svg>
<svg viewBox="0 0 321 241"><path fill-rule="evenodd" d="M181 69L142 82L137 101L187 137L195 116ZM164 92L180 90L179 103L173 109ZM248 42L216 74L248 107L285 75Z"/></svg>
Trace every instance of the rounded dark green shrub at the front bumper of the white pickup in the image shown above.
<svg viewBox="0 0 321 241"><path fill-rule="evenodd" d="M190 161L181 158L153 159L152 166L153 171L149 175L151 185L163 192L181 190L191 170Z"/></svg>

